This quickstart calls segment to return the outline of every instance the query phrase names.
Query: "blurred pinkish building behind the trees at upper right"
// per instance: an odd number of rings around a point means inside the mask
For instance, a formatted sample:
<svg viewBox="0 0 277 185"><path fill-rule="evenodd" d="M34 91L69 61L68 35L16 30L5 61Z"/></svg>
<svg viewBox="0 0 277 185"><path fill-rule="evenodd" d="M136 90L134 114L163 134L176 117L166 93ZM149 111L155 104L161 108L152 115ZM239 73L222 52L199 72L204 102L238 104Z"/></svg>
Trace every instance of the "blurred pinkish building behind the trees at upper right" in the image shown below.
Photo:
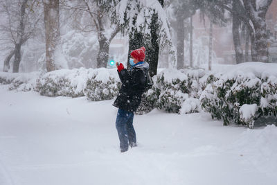
<svg viewBox="0 0 277 185"><path fill-rule="evenodd" d="M267 22L267 37L271 42L277 42L277 1L274 0L269 7L266 15ZM199 13L193 16L193 34L194 40L201 37L208 37L210 28L210 21L206 17L205 21L200 19ZM243 36L243 33L242 33ZM241 37L242 49L245 49L245 37ZM204 42L205 44L205 42ZM206 43L208 44L208 43ZM251 44L251 41L249 41ZM208 46L208 45L207 45ZM275 44L269 44L275 46ZM249 55L251 56L251 46L249 46ZM233 45L232 24L229 23L226 27L213 25L213 51L216 58L213 58L215 63L235 64L235 50ZM271 51L269 49L269 55ZM205 51L207 52L207 51ZM245 51L243 51L245 53ZM276 54L277 55L277 54ZM208 58L207 58L208 61ZM274 62L274 61L271 61ZM277 61L276 61L277 62Z"/></svg>

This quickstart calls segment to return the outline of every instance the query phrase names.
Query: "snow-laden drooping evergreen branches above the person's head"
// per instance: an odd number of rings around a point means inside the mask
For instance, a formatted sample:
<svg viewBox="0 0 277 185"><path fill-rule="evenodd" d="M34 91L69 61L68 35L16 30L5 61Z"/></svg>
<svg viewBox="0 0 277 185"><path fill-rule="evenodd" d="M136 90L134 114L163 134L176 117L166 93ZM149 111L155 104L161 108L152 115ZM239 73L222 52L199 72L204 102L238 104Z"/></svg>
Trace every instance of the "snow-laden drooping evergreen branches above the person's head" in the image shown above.
<svg viewBox="0 0 277 185"><path fill-rule="evenodd" d="M157 0L122 0L116 6L116 15L118 17L118 23L125 26L127 33L134 34L135 30L143 32L145 35L150 35L150 24L153 14L158 16L159 24L159 46L164 48L170 46L170 60L173 62L173 66L176 63L176 49L172 44L170 37L170 28L168 18L166 17L166 11Z"/></svg>

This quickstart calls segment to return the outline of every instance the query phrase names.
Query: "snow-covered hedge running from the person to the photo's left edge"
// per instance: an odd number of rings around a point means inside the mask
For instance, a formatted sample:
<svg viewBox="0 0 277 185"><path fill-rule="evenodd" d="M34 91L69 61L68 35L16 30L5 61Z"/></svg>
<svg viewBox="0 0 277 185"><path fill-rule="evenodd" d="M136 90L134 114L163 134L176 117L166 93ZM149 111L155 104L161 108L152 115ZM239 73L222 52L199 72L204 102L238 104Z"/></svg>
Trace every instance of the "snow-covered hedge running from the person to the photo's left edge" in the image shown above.
<svg viewBox="0 0 277 185"><path fill-rule="evenodd" d="M109 100L118 94L116 69L60 69L49 73L0 73L0 84L10 90L38 91L43 96L87 96L89 100Z"/></svg>

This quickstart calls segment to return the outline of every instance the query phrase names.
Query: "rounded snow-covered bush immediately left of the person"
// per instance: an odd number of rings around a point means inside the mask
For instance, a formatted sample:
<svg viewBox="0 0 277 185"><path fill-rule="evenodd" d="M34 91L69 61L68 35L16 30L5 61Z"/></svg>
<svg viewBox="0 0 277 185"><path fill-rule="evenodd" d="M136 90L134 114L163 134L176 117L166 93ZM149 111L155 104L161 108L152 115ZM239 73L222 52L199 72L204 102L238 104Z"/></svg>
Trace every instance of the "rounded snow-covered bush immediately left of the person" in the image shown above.
<svg viewBox="0 0 277 185"><path fill-rule="evenodd" d="M96 69L89 73L86 96L89 100L110 100L118 94L120 80L115 69Z"/></svg>

